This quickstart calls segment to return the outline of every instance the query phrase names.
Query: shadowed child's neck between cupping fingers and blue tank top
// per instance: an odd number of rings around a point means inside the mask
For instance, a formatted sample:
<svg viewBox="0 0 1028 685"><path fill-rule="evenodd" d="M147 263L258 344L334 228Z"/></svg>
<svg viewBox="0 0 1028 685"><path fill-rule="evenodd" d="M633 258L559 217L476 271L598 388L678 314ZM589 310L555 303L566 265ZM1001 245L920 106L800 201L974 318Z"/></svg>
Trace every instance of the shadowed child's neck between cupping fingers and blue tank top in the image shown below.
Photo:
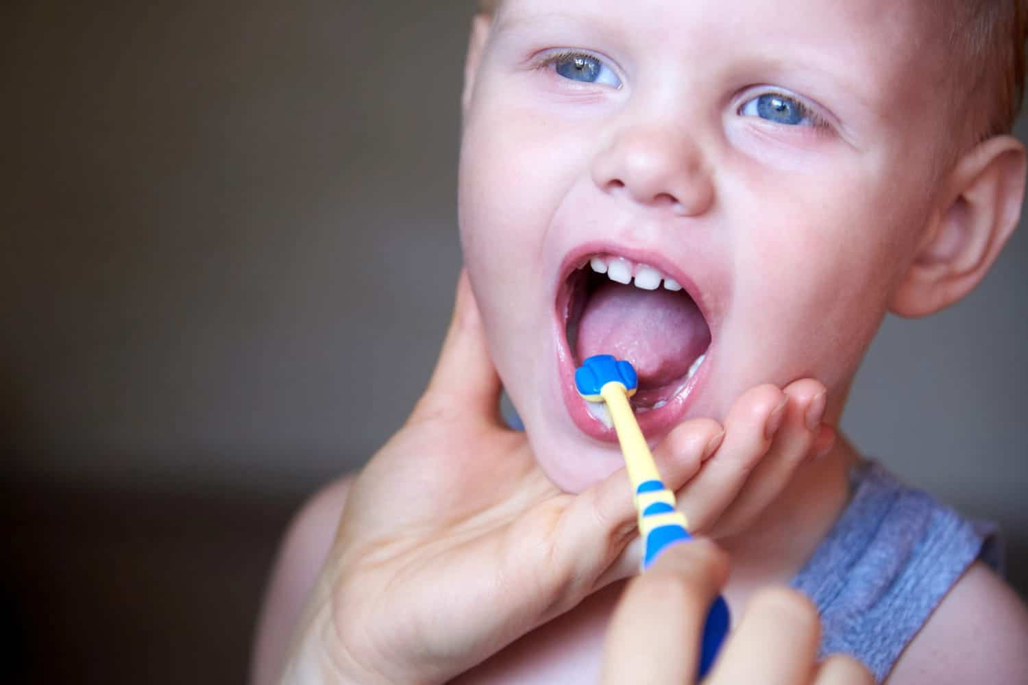
<svg viewBox="0 0 1028 685"><path fill-rule="evenodd" d="M788 487L745 531L719 543L732 558L726 595L733 608L757 588L787 584L849 500L848 470L859 459L840 434L827 456L801 464Z"/></svg>

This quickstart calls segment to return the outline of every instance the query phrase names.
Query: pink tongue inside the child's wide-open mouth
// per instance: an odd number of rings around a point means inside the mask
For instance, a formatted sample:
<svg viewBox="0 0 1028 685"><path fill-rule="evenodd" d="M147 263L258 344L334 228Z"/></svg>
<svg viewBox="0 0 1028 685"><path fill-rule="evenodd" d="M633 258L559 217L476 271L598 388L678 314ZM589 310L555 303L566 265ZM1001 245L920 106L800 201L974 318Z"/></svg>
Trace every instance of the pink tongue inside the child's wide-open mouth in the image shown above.
<svg viewBox="0 0 1028 685"><path fill-rule="evenodd" d="M635 367L639 381L682 378L710 344L710 330L684 292L644 291L604 281L589 298L578 328L578 355L613 354Z"/></svg>

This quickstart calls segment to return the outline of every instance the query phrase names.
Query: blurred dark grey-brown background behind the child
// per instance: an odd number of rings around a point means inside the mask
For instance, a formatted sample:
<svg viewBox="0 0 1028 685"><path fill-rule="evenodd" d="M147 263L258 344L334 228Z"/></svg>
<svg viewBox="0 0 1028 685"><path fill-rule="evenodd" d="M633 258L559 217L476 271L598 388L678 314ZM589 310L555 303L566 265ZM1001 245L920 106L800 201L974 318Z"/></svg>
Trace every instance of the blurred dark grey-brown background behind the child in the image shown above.
<svg viewBox="0 0 1028 685"><path fill-rule="evenodd" d="M0 6L4 682L243 682L291 513L442 340L472 4ZM1026 269L888 320L844 422L1023 596Z"/></svg>

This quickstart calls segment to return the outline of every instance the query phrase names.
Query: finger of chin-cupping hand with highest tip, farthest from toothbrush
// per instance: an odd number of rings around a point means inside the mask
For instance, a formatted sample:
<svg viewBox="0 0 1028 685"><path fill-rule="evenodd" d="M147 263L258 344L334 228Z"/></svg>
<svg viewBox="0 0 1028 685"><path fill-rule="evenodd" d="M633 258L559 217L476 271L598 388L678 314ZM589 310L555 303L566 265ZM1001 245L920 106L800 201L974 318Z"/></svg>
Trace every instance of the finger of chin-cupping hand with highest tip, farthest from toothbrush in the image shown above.
<svg viewBox="0 0 1028 685"><path fill-rule="evenodd" d="M781 494L797 468L814 453L824 414L827 389L805 378L784 389L785 417L768 453L754 467L735 499L715 525L718 535L731 535L751 523Z"/></svg>

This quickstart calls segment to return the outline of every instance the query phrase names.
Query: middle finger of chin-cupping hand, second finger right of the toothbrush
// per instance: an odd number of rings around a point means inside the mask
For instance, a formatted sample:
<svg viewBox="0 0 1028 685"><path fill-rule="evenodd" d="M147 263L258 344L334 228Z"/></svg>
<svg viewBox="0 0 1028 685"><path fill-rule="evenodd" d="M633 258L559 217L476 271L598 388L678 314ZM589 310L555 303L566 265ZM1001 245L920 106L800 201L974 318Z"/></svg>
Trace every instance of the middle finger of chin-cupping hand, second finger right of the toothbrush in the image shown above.
<svg viewBox="0 0 1028 685"><path fill-rule="evenodd" d="M788 395L774 385L746 390L729 410L725 439L700 472L678 491L689 530L704 532L735 499L749 472L771 446L784 418Z"/></svg>

